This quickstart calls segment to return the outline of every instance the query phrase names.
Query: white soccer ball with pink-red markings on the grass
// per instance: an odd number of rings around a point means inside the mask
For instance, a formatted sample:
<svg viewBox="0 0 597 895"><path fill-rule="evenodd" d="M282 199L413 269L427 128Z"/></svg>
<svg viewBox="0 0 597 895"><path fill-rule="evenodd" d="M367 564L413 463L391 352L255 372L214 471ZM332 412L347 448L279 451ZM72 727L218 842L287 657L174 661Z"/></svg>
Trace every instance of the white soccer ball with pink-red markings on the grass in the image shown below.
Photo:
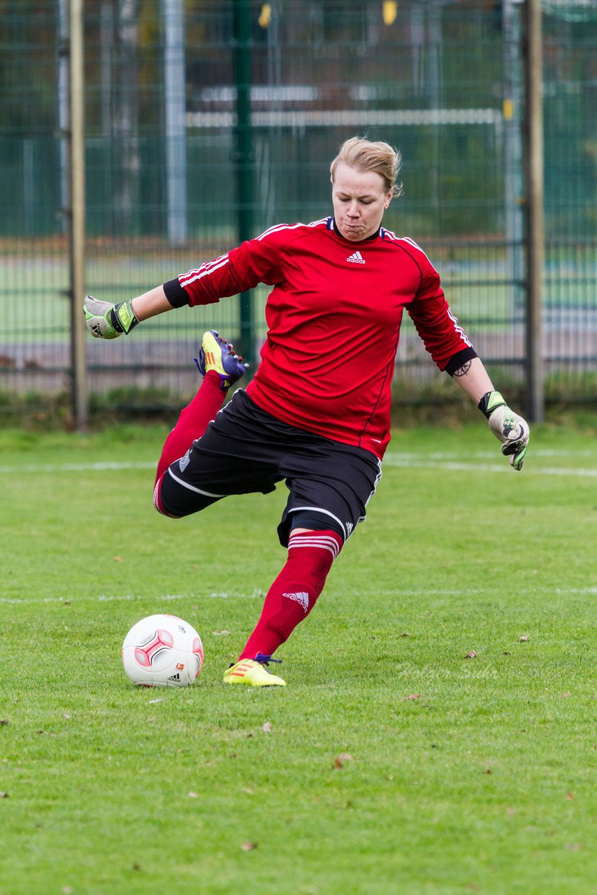
<svg viewBox="0 0 597 895"><path fill-rule="evenodd" d="M202 664L200 636L177 616L142 618L124 637L124 670L137 686L189 686Z"/></svg>

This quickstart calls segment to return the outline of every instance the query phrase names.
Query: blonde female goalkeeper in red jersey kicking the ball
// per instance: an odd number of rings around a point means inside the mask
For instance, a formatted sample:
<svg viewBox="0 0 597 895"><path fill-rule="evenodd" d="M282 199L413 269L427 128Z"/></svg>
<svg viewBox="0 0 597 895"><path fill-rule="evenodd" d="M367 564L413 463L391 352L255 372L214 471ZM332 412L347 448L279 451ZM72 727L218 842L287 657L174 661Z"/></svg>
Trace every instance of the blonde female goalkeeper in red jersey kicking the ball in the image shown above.
<svg viewBox="0 0 597 895"><path fill-rule="evenodd" d="M456 378L516 470L529 428L493 388L458 326L427 255L381 226L401 187L384 142L345 141L331 164L333 217L280 224L200 268L121 304L85 299L93 336L115 338L185 304L211 304L265 283L268 336L258 371L220 410L245 365L210 330L200 389L166 439L154 503L180 518L231 494L286 480L277 528L286 565L228 684L285 686L268 663L320 596L343 544L365 517L388 446L390 386L407 311L439 370ZM273 660L277 661L277 660Z"/></svg>

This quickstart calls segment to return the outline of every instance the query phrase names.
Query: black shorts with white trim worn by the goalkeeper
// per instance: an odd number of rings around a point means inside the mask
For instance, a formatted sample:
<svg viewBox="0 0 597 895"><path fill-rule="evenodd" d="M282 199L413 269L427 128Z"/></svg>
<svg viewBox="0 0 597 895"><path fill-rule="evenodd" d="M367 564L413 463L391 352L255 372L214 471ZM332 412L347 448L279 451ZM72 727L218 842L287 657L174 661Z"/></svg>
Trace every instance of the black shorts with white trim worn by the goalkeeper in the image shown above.
<svg viewBox="0 0 597 895"><path fill-rule="evenodd" d="M268 494L286 479L290 495L277 528L286 547L297 511L329 521L345 541L380 477L381 461L371 451L295 429L239 390L166 470L160 499L169 516L189 516L231 494Z"/></svg>

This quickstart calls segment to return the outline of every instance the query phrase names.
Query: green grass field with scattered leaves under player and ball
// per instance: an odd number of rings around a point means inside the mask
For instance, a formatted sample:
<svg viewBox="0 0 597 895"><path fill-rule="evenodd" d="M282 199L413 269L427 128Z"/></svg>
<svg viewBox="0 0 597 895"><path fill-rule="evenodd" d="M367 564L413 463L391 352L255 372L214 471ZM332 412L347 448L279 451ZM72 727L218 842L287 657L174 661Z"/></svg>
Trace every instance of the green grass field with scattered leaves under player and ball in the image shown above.
<svg viewBox="0 0 597 895"><path fill-rule="evenodd" d="M257 691L221 678L286 489L158 516L165 434L0 433L2 895L593 893L594 429L520 474L481 422L397 433ZM189 689L124 677L161 611L202 635Z"/></svg>

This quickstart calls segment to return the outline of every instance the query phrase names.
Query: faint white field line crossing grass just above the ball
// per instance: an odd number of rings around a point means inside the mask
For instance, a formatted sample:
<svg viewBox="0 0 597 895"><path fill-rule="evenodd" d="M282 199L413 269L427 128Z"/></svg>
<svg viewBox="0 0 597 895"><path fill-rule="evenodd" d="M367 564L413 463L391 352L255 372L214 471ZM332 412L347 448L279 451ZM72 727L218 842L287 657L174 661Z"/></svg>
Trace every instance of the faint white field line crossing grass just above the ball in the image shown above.
<svg viewBox="0 0 597 895"><path fill-rule="evenodd" d="M428 589L428 588L413 588L413 589L396 589L396 590L378 590L377 593L382 594L394 594L397 597L470 597L470 596L482 596L485 593L495 593L495 589L493 588L467 588L464 591L460 590L442 590L440 588ZM528 589L524 588L519 591L519 593L524 596L525 593L528 592ZM596 587L554 587L551 593L558 593L561 595L570 595L570 594L597 594L597 586ZM107 594L99 594L96 596L90 595L87 597L43 597L33 600L21 600L18 597L0 597L0 603L10 603L10 604L18 604L18 605L29 605L30 603L107 603L107 602L131 602L131 601L140 601L147 600L153 601L157 603L176 601L176 600L263 600L264 593L259 590L255 590L252 593L203 593L200 597L195 594L190 593L166 593L158 597L148 597L147 594L134 594L134 593L122 593L122 594L114 594L112 596L108 596Z"/></svg>

